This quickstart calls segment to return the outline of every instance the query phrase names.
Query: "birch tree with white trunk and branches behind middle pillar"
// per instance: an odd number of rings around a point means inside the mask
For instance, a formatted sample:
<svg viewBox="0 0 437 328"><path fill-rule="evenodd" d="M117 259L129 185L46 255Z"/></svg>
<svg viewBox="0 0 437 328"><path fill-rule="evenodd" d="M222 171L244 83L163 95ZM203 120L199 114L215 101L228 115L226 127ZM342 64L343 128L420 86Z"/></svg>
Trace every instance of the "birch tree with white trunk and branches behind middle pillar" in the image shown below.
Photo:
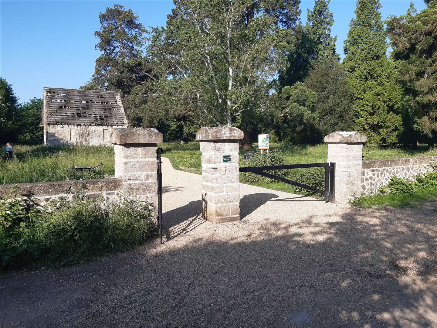
<svg viewBox="0 0 437 328"><path fill-rule="evenodd" d="M286 66L284 30L253 0L184 1L151 35L160 79L149 96L190 105L219 126L260 108Z"/></svg>

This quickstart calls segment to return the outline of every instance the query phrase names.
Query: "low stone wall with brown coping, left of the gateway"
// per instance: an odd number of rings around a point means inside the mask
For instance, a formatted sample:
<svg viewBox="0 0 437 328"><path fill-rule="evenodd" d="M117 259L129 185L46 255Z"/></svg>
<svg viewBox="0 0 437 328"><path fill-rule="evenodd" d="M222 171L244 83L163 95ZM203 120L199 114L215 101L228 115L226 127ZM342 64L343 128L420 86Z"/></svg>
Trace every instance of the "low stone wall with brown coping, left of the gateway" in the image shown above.
<svg viewBox="0 0 437 328"><path fill-rule="evenodd" d="M79 195L101 197L106 202L119 202L123 198L122 181L117 178L0 185L0 197L10 195L13 189L15 194L41 206L57 200L71 200Z"/></svg>

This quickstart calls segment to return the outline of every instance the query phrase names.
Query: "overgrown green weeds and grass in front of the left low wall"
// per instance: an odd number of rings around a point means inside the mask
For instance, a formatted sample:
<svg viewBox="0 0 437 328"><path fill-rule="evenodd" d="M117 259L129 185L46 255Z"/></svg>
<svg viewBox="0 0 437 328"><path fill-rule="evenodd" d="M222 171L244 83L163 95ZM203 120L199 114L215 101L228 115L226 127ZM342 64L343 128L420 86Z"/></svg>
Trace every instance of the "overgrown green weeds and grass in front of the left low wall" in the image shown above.
<svg viewBox="0 0 437 328"><path fill-rule="evenodd" d="M69 202L31 208L19 195L0 199L0 270L68 265L139 245L155 228L155 209L133 202Z"/></svg>

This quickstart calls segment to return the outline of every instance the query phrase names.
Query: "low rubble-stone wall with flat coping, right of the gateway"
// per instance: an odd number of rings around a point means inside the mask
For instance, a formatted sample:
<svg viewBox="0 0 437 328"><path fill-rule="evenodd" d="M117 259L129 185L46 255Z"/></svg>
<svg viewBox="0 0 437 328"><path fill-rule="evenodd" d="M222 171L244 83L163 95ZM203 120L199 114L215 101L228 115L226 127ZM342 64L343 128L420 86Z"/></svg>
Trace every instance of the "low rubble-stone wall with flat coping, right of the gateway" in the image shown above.
<svg viewBox="0 0 437 328"><path fill-rule="evenodd" d="M373 195L394 176L413 180L418 174L434 171L433 163L437 164L437 156L363 161L361 192Z"/></svg>

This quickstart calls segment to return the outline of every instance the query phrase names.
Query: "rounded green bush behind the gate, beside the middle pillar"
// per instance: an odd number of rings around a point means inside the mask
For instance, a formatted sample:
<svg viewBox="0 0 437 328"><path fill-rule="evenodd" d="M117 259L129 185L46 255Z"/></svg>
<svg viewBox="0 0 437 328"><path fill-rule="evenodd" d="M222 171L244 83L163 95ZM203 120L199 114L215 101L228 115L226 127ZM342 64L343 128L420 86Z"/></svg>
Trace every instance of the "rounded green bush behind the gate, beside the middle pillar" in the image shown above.
<svg viewBox="0 0 437 328"><path fill-rule="evenodd" d="M270 166L270 165L285 165L284 154L282 154L281 150L279 149L271 150L268 155L266 153L261 155L261 152L258 151L257 153L254 154L253 157L250 157L250 159L243 162L244 167ZM283 178L285 178L288 175L286 170L274 170L274 171L266 171L266 172ZM243 173L243 177L246 179L248 183L277 182L277 180L263 177L261 175L251 172Z"/></svg>

